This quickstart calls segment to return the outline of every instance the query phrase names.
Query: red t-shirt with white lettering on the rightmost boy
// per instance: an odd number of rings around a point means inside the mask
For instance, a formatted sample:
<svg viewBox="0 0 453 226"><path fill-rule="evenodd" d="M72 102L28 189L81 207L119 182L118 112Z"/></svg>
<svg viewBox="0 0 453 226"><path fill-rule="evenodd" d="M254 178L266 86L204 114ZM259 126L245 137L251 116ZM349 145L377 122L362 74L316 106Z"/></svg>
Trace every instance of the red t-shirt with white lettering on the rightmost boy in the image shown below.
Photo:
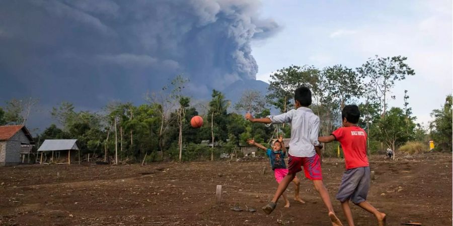
<svg viewBox="0 0 453 226"><path fill-rule="evenodd" d="M346 169L369 166L366 157L366 133L360 127L341 127L332 135L343 148Z"/></svg>

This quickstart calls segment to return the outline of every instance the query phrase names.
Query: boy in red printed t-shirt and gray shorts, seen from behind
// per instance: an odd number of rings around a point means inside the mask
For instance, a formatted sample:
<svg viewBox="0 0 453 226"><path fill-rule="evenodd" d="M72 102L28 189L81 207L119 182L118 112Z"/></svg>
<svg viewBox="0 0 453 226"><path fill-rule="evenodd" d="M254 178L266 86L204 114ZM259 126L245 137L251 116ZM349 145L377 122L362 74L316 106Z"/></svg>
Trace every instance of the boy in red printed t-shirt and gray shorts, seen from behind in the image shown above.
<svg viewBox="0 0 453 226"><path fill-rule="evenodd" d="M354 225L349 200L372 213L380 226L386 225L386 214L366 201L369 190L369 164L366 157L366 133L357 126L360 111L357 105L346 105L341 111L343 127L330 136L319 137L319 142L338 141L343 147L346 171L341 179L337 199L341 202L349 226Z"/></svg>

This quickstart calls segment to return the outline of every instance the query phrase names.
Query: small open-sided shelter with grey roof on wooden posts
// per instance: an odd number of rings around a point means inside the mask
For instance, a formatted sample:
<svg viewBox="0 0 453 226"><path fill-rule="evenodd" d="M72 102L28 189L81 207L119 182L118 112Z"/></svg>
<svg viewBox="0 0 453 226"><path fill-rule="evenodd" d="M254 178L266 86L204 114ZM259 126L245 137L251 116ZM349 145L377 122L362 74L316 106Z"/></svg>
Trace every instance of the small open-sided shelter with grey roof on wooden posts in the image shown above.
<svg viewBox="0 0 453 226"><path fill-rule="evenodd" d="M60 155L61 152L63 152L63 156ZM67 155L65 155L65 152L67 152ZM45 140L44 143L42 143L41 147L39 147L38 149L38 156L39 154L41 155L39 164L71 164L71 153L72 155L74 155L74 153L76 152L79 152L78 154L80 163L80 149L77 145L77 140ZM50 153L52 154L51 157ZM67 159L64 156L67 156Z"/></svg>

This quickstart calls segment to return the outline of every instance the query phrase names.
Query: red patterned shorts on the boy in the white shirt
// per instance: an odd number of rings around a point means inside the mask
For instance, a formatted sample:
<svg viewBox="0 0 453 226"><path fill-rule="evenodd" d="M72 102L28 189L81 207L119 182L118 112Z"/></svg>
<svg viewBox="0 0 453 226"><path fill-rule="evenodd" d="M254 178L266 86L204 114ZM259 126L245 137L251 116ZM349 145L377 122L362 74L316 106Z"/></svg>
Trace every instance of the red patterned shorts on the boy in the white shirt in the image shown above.
<svg viewBox="0 0 453 226"><path fill-rule="evenodd" d="M288 173L295 174L302 171L304 166L305 177L310 180L322 180L323 172L321 170L321 161L318 154L312 157L295 157L289 155Z"/></svg>

